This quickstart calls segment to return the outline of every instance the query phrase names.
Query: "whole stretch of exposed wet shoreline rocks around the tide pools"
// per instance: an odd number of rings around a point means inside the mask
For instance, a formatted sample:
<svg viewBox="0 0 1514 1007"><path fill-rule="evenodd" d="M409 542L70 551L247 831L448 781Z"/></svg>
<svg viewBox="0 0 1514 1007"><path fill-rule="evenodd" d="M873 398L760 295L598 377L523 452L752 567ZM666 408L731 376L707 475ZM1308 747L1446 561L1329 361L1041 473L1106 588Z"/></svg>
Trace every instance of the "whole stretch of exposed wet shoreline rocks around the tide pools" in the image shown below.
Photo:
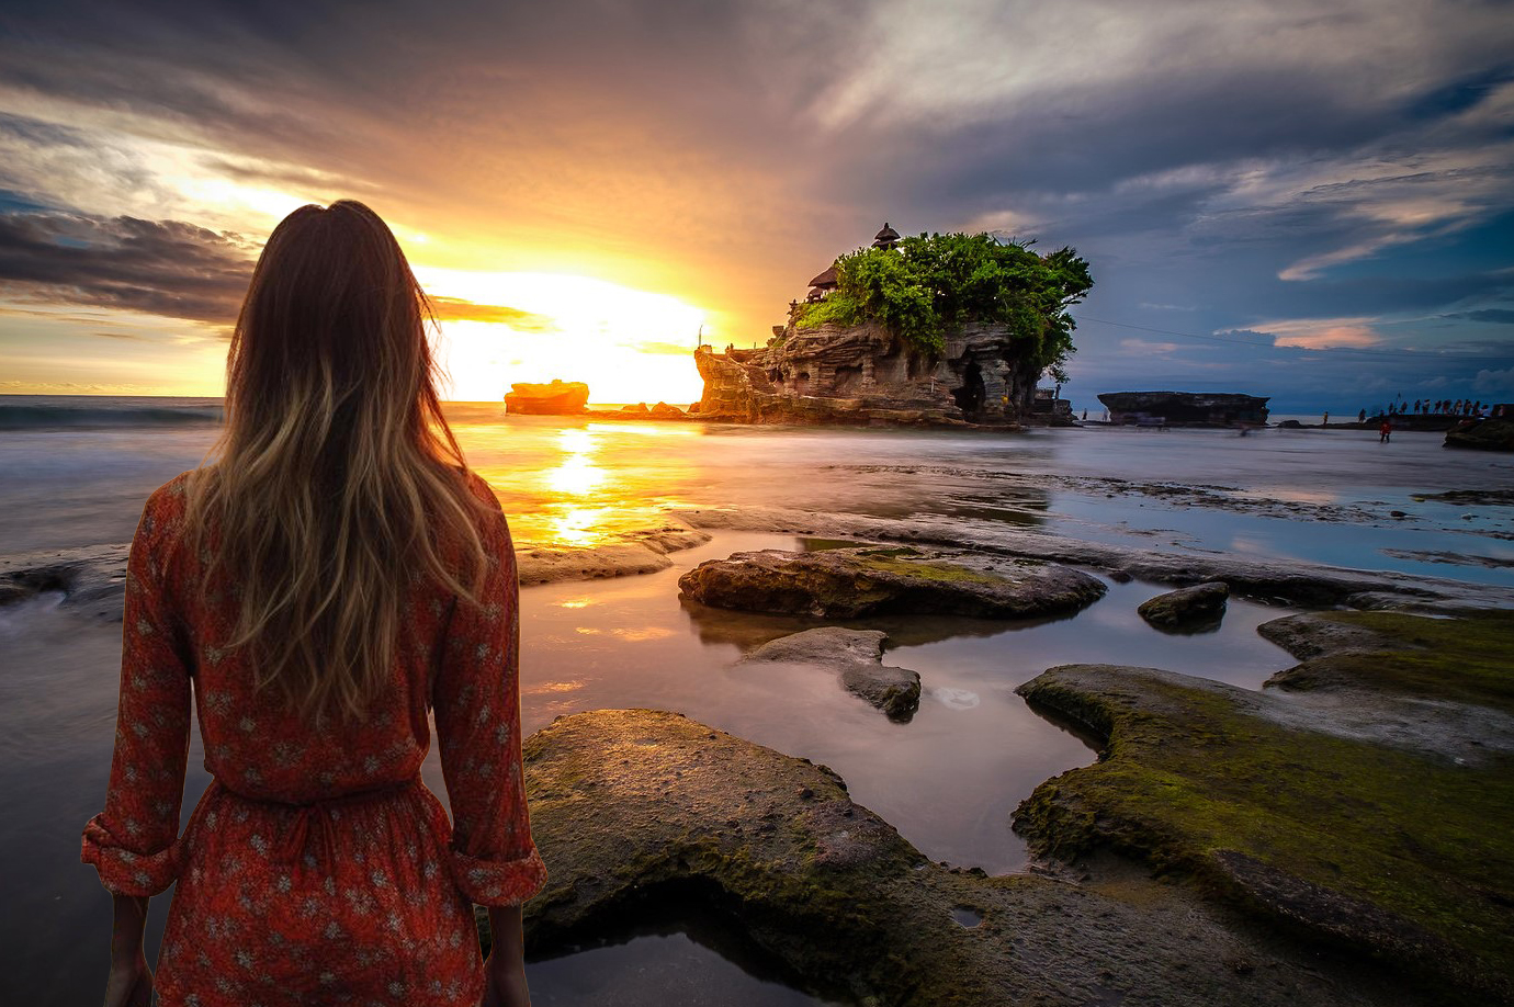
<svg viewBox="0 0 1514 1007"><path fill-rule="evenodd" d="M834 539L680 580L689 604L796 622L1072 615L1105 595L1101 575L1176 588L1143 613L1164 631L1223 618L1228 597L1355 610L1266 622L1301 663L1261 692L1116 665L1025 683L1099 747L1016 810L1028 874L931 862L825 766L677 712L559 718L525 742L551 871L525 907L533 954L659 903L715 912L805 989L880 1007L1514 1002L1514 592L763 507L678 510L593 550L522 545L522 583L665 569L724 528ZM120 619L124 562L124 545L12 556L0 603L62 592ZM824 625L737 666L813 666L910 730L921 675L883 645Z"/></svg>

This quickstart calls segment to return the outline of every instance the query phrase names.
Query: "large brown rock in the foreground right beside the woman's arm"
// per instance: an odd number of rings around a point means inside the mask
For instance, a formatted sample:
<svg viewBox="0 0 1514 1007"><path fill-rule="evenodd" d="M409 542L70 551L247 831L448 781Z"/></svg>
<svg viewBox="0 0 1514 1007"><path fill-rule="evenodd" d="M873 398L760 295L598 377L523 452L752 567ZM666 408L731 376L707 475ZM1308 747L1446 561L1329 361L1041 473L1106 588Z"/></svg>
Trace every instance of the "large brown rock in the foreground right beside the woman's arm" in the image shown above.
<svg viewBox="0 0 1514 1007"><path fill-rule="evenodd" d="M1170 884L933 863L825 766L678 713L557 718L524 760L550 872L525 904L533 956L696 901L807 989L875 1007L1425 1002Z"/></svg>

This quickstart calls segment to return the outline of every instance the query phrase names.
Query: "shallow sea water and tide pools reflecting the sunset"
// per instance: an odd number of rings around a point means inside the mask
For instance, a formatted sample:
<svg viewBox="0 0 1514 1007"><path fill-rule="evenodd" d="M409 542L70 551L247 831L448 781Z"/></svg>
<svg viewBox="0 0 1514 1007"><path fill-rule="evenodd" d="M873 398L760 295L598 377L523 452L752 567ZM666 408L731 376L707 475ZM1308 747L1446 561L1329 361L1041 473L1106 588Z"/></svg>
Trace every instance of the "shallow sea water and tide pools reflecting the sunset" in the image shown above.
<svg viewBox="0 0 1514 1007"><path fill-rule="evenodd" d="M120 407L126 418L94 416L85 427L11 422L0 436L0 554L129 541L147 494L195 465L217 433L204 415L133 422L132 407ZM210 407L210 400L185 404L201 413ZM1509 566L1382 551L1514 560L1514 542L1496 538L1514 535L1514 509L1411 498L1506 489L1514 463L1444 451L1428 435L1403 433L1379 447L1360 432L792 430L503 419L492 404L448 409L469 462L495 486L522 542L593 542L648 524L665 506L769 504L1514 586ZM1166 492L1163 485L1208 489ZM1279 512L1288 503L1302 509ZM1393 509L1407 516L1390 518ZM1008 828L1016 803L1093 759L1078 736L1030 710L1013 694L1017 684L1058 663L1117 662L1257 687L1291 663L1255 634L1257 624L1287 610L1237 600L1217 631L1167 636L1136 615L1161 591L1140 583L1111 583L1102 601L1069 619L851 622L887 631L884 660L922 677L921 712L893 724L830 674L736 666L745 648L813 622L718 612L677 597L678 574L702 559L808 545L721 533L675 553L675 566L659 574L522 591L525 728L598 707L681 710L830 765L858 803L927 856L1001 872L1025 857ZM58 612L56 598L39 598L0 609L0 786L11 812L0 821L0 857L26 865L12 872L0 922L0 940L26 963L8 971L6 1001L85 1002L98 996L109 922L94 872L79 865L79 831L98 810L109 771L120 627L82 624ZM207 783L194 744L186 813ZM444 793L435 756L424 772ZM167 910L167 899L156 903L150 954ZM544 1004L818 1002L712 937L718 927L695 916L533 963L533 995Z"/></svg>

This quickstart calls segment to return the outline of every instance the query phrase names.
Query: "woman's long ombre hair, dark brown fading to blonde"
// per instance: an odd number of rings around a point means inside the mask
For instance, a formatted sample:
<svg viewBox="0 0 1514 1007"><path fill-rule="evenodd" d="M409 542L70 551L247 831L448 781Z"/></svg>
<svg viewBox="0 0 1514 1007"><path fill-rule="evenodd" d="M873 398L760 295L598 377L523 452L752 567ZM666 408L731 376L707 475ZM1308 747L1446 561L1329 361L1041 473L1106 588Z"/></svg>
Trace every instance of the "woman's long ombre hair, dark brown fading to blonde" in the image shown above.
<svg viewBox="0 0 1514 1007"><path fill-rule="evenodd" d="M377 214L294 210L236 320L220 457L188 482L189 541L236 586L220 645L310 722L360 719L392 681L418 578L477 600L484 504L442 416L430 321Z"/></svg>

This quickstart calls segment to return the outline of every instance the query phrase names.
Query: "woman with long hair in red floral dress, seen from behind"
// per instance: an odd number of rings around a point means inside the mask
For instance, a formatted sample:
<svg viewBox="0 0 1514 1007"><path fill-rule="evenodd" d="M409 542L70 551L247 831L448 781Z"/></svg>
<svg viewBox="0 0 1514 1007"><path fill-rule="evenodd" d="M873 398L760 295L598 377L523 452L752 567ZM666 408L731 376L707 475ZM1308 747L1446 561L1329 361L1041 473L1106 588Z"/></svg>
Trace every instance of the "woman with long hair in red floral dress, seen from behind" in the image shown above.
<svg viewBox="0 0 1514 1007"><path fill-rule="evenodd" d="M428 316L362 203L294 210L253 270L218 457L153 492L127 559L82 853L114 896L107 1007L530 1004L521 903L547 869L515 550L442 415ZM191 697L212 780L179 836ZM421 781L433 716L451 821Z"/></svg>

